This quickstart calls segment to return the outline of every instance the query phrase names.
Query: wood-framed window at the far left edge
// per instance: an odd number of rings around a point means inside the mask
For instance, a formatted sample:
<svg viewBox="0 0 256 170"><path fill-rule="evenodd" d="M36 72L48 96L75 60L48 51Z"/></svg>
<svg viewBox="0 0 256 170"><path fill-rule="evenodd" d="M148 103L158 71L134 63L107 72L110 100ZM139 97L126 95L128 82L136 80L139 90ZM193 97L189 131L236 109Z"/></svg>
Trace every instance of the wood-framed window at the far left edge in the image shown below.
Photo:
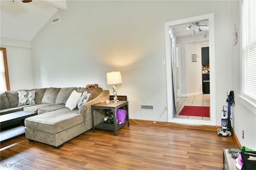
<svg viewBox="0 0 256 170"><path fill-rule="evenodd" d="M6 49L0 48L0 91L10 90Z"/></svg>

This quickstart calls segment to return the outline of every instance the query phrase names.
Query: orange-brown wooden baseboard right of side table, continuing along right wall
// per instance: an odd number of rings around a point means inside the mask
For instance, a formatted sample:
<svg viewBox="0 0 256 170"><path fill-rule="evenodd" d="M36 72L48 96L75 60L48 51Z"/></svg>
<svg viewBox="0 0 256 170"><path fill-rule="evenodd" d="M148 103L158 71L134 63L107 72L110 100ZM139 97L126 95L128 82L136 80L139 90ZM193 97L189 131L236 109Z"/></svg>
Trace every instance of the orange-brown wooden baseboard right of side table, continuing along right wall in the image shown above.
<svg viewBox="0 0 256 170"><path fill-rule="evenodd" d="M221 128L221 126L210 126L210 125L185 125L185 124L179 124L179 123L171 123L171 122L164 122L164 121L157 121L156 123L153 123L154 121L149 121L149 120L140 120L140 119L130 119L130 122L136 122L141 123L141 124L149 124L150 125L156 125L156 126L171 126L171 127L182 127L182 128L192 128L192 129L206 129L206 130L211 130L211 131L216 131L217 135L217 129ZM236 133L232 131L232 137L234 139L234 142L236 144L237 148L242 148Z"/></svg>

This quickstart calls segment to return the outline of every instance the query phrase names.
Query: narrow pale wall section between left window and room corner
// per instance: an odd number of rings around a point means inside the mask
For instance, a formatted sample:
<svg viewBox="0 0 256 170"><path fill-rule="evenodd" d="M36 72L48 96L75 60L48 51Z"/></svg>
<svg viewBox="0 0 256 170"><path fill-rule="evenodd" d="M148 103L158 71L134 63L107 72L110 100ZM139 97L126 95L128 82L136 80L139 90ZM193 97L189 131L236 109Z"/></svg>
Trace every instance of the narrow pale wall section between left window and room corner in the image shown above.
<svg viewBox="0 0 256 170"><path fill-rule="evenodd" d="M31 43L1 37L1 47L6 48L10 90L34 88Z"/></svg>

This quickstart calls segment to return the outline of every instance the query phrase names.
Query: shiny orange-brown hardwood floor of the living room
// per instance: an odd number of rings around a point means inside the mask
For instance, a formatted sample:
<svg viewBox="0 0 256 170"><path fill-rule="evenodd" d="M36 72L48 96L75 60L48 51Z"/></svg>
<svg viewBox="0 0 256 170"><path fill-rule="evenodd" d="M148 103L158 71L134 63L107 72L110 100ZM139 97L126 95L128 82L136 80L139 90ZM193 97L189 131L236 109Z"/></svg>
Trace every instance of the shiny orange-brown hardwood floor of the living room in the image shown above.
<svg viewBox="0 0 256 170"><path fill-rule="evenodd" d="M24 135L1 143L0 169L64 170L222 170L222 149L236 148L232 136L216 130L138 125L92 129L60 149L29 142ZM9 167L10 166L10 167Z"/></svg>

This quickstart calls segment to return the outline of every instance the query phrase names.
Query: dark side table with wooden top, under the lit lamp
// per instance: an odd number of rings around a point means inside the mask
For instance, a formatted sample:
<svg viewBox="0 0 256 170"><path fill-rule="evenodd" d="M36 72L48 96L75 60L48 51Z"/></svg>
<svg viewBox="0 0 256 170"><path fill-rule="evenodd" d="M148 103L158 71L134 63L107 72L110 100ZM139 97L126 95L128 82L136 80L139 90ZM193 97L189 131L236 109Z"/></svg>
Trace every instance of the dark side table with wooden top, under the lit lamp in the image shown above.
<svg viewBox="0 0 256 170"><path fill-rule="evenodd" d="M122 124L118 124L116 122L116 110L122 106L127 105L127 115L126 115L126 121ZM130 120L129 120L129 106L128 101L118 101L117 103L114 103L110 101L110 104L104 103L98 103L91 106L92 109L92 131L95 133L95 128L98 129L106 129L106 130L112 130L114 131L114 135L117 136L117 130L123 127L124 125L128 124L130 126ZM94 125L94 109L110 109L113 112L113 118L114 118L114 124L110 123L99 123L98 125Z"/></svg>

